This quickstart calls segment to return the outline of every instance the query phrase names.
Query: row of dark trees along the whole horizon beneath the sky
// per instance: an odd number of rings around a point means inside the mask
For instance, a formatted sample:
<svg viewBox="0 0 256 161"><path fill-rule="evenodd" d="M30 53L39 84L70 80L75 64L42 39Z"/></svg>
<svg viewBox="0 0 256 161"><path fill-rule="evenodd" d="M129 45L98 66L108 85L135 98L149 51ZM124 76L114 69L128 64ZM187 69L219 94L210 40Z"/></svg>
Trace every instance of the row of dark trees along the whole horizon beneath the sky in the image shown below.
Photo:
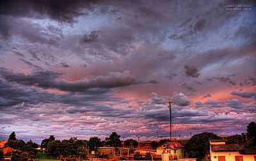
<svg viewBox="0 0 256 161"><path fill-rule="evenodd" d="M182 143L185 146L185 153L187 157L191 158L204 158L209 153L209 140L220 139L220 136L212 132L204 132L192 136L186 143ZM248 146L256 148L256 123L251 122L247 125L246 133L236 134L234 136L225 137L227 143L248 143ZM161 141L152 141L152 148L156 149L161 144L168 142L168 139L162 139ZM15 150L12 155L11 161L26 161L28 158L35 158L38 150L38 144L33 141L25 143L21 139L17 139L15 132L12 132L8 138L8 142L5 146L9 146ZM47 153L53 158L59 158L60 160L66 160L67 157L72 156L73 158L86 158L88 157L89 151L97 151L100 146L111 146L111 147L129 147L137 148L138 141L134 139L127 139L122 143L120 135L116 132L112 132L109 137L101 140L99 137L90 137L89 140L77 139L71 137L70 139L63 139L62 141L56 139L54 136L42 140L41 148L45 148ZM131 151L132 152L132 151ZM98 156L100 157L100 156ZM141 156L140 153L134 153L134 159L136 160L150 160L150 154ZM3 160L3 151L0 150L0 161Z"/></svg>

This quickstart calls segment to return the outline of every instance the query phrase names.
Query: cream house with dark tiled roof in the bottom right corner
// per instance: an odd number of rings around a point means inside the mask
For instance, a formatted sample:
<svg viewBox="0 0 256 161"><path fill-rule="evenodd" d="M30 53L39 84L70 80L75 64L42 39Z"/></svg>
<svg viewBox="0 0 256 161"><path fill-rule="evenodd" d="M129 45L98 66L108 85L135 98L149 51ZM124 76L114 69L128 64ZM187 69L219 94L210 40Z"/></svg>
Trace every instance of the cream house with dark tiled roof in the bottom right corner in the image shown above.
<svg viewBox="0 0 256 161"><path fill-rule="evenodd" d="M210 155L211 161L256 161L256 149L226 144L225 140L211 140Z"/></svg>

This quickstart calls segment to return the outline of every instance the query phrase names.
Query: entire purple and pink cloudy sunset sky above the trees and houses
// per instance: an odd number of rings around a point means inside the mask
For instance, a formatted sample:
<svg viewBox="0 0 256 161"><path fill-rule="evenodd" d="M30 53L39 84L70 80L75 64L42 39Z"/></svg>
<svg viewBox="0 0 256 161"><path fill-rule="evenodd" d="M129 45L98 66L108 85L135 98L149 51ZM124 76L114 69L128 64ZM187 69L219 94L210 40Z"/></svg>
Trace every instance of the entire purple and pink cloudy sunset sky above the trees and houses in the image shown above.
<svg viewBox="0 0 256 161"><path fill-rule="evenodd" d="M170 97L175 136L245 132L255 15L253 1L1 1L0 139L167 137Z"/></svg>

